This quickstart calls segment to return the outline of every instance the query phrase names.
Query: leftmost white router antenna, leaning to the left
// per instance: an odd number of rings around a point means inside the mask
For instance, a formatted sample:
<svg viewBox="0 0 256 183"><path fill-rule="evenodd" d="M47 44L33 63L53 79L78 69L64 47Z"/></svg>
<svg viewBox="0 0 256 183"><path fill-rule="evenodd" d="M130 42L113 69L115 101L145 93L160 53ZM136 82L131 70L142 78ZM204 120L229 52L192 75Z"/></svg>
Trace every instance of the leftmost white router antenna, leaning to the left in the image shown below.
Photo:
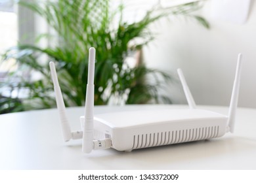
<svg viewBox="0 0 256 183"><path fill-rule="evenodd" d="M70 141L70 139L72 138L72 133L70 130L70 125L68 123L68 118L66 116L66 108L64 105L60 86L58 84L58 77L57 77L55 65L54 65L53 61L51 61L49 65L50 65L50 69L51 69L51 75L53 78L54 92L56 95L56 103L57 103L57 108L58 108L58 114L60 116L60 125L62 128L63 139L64 139L64 141Z"/></svg>

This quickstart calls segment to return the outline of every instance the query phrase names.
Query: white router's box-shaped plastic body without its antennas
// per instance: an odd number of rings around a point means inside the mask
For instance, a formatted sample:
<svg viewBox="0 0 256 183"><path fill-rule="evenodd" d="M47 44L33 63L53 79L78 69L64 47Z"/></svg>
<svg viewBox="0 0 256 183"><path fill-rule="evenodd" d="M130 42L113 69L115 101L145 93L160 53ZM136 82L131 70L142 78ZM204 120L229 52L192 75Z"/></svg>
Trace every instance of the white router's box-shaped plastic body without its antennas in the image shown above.
<svg viewBox="0 0 256 183"><path fill-rule="evenodd" d="M95 115L95 139L112 139L112 148L138 148L223 136L228 117L200 109L152 109ZM84 116L81 116L84 122Z"/></svg>

